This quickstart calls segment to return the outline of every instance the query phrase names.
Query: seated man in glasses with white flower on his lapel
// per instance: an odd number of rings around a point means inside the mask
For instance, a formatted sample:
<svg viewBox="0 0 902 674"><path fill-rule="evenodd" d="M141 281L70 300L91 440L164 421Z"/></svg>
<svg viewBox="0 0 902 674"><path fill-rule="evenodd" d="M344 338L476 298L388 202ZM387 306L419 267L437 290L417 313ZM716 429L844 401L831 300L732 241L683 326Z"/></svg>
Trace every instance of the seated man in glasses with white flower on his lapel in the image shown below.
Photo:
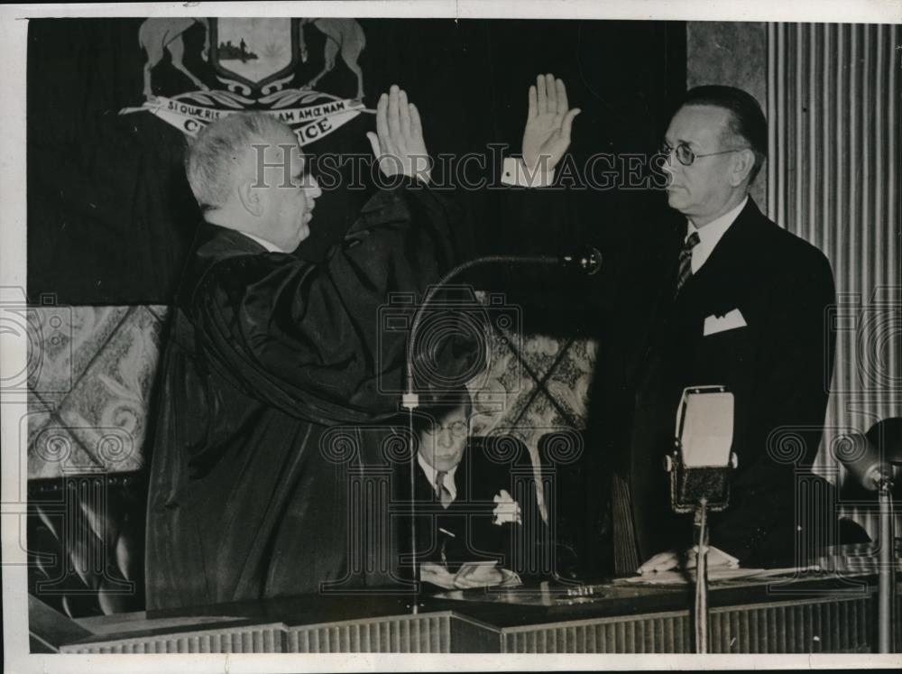
<svg viewBox="0 0 902 674"><path fill-rule="evenodd" d="M412 507L420 579L464 589L548 575L548 528L529 450L511 436L471 438L472 417L465 388L417 413ZM400 466L399 482L410 494L409 465Z"/></svg>

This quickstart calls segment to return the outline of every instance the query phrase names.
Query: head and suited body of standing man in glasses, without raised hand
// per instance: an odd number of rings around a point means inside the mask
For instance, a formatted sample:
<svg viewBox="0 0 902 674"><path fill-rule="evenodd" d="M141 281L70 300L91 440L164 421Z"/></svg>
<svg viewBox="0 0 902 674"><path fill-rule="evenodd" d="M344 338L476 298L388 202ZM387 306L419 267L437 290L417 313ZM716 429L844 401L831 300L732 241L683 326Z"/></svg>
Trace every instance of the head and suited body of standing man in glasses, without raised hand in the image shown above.
<svg viewBox="0 0 902 674"><path fill-rule="evenodd" d="M711 516L710 563L792 565L810 536L798 519L796 469L815 458L833 369L830 264L749 196L767 152L767 122L749 94L690 90L662 152L668 204L685 220L641 266L658 274L657 292L629 377L629 456L615 467L618 570L637 559L647 560L640 573L674 568L691 547L691 517L670 512L660 466L684 389L705 384L735 396L739 459L730 505Z"/></svg>

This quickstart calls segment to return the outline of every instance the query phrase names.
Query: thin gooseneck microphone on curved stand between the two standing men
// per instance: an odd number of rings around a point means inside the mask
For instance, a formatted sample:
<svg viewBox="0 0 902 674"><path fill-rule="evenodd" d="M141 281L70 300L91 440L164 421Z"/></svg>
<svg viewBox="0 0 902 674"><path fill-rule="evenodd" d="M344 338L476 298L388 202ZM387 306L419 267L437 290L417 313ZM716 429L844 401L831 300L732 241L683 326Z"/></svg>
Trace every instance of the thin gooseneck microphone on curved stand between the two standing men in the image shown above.
<svg viewBox="0 0 902 674"><path fill-rule="evenodd" d="M554 255L485 255L460 263L453 267L449 272L442 276L437 283L430 286L426 292L426 296L413 315L413 322L410 325L410 338L407 345L407 357L405 363L404 374L404 393L401 396L401 407L408 411L408 449L410 451L410 559L413 564L414 593L419 592L420 569L417 563L417 517L416 517L416 498L414 489L417 481L417 453L414 450L413 439L413 416L414 411L419 408L419 393L416 391L416 384L413 378L413 356L415 346L417 344L417 335L419 326L423 319L423 311L430 302L435 298L438 291L446 287L448 282L454 280L461 273L474 267L488 264L563 264L565 266L573 266L582 269L589 275L598 271L601 265L602 256L595 248L588 248L582 255L565 255L557 257ZM414 596L412 602L412 613L419 613L419 605L417 598Z"/></svg>

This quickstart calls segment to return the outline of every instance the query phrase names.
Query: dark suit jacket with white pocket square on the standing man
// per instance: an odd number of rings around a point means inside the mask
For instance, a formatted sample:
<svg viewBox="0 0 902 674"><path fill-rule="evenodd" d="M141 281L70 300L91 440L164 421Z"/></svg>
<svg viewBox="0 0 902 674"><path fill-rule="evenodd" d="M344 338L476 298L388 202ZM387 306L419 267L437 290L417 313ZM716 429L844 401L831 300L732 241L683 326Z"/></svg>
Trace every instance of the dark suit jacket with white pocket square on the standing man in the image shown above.
<svg viewBox="0 0 902 674"><path fill-rule="evenodd" d="M624 360L634 396L631 434L615 470L628 476L640 562L692 541L691 516L670 512L662 458L672 451L684 388L724 384L735 396L739 467L729 508L712 516L711 544L745 566L791 564L800 525L796 470L817 453L833 371L833 273L820 251L749 199L674 300L685 234L683 223L652 261L657 297L650 313L644 308L640 350ZM706 317L732 309L745 327L704 335Z"/></svg>

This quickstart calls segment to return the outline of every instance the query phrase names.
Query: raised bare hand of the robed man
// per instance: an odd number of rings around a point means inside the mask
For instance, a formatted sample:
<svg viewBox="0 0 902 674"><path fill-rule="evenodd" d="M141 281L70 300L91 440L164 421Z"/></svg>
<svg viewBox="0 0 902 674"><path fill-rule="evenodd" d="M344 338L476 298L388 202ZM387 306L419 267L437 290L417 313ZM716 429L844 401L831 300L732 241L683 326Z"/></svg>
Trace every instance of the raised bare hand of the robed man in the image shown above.
<svg viewBox="0 0 902 674"><path fill-rule="evenodd" d="M379 97L376 106L376 133L368 132L379 170L387 176L403 174L429 181L430 160L423 140L423 127L417 106L407 99L407 92L391 85Z"/></svg>

